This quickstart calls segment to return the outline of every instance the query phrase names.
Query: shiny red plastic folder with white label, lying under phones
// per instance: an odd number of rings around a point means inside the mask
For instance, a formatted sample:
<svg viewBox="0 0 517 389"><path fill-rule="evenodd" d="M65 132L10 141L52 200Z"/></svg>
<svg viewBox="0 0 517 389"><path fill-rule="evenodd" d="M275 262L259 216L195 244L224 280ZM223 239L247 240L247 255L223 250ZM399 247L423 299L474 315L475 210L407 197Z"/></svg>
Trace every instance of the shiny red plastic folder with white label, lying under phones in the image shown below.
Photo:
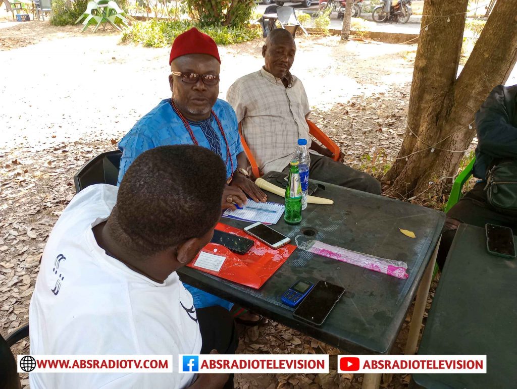
<svg viewBox="0 0 517 389"><path fill-rule="evenodd" d="M296 249L296 246L286 244L275 250L246 234L245 231L227 226L226 224L218 223L216 229L251 239L254 242L253 247L246 254L240 255L220 244L208 243L203 247L202 252L226 257L219 271L196 266L196 261L201 254L198 254L187 266L208 274L217 275L237 284L249 286L250 288L258 289L264 285L268 278L282 266Z"/></svg>

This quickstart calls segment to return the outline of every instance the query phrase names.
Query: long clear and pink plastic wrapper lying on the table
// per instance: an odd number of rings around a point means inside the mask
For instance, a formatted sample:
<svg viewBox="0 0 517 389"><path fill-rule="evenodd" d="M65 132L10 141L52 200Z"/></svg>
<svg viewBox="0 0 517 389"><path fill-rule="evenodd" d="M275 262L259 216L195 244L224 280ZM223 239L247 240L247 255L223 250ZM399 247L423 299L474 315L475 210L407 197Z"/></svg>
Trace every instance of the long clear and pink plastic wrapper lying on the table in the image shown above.
<svg viewBox="0 0 517 389"><path fill-rule="evenodd" d="M323 257L337 259L338 261L355 264L364 269L370 269L379 273L391 275L393 277L406 279L407 263L393 261L390 259L377 258L368 254L361 254L346 248L332 246L318 240L309 240L298 244L298 248L310 253L318 254Z"/></svg>

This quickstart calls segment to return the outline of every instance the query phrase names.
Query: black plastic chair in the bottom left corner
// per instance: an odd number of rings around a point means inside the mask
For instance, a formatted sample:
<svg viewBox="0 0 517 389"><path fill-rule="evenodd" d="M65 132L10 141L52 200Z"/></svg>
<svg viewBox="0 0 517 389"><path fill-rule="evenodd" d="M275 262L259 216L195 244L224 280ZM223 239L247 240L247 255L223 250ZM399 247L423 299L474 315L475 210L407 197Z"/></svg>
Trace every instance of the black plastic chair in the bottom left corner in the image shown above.
<svg viewBox="0 0 517 389"><path fill-rule="evenodd" d="M22 387L11 346L28 336L28 324L19 327L5 339L3 336L0 336L0 389L18 389Z"/></svg>

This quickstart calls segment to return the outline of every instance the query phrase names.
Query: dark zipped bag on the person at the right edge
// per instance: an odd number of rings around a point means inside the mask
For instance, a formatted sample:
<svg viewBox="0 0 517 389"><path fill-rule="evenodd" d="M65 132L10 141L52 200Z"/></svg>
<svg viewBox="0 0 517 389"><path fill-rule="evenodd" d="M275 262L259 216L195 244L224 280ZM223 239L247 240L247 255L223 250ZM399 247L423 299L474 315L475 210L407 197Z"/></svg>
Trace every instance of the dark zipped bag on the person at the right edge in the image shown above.
<svg viewBox="0 0 517 389"><path fill-rule="evenodd" d="M496 211L517 216L517 160L501 160L486 174L486 200Z"/></svg>

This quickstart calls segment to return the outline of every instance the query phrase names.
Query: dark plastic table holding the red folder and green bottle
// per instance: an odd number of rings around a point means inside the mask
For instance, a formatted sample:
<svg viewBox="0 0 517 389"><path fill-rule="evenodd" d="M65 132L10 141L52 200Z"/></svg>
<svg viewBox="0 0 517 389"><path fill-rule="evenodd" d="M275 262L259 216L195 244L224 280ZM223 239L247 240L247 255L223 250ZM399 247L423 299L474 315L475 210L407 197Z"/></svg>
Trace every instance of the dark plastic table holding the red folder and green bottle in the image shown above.
<svg viewBox="0 0 517 389"><path fill-rule="evenodd" d="M276 180L269 181L278 184ZM282 197L267 195L268 201L283 203ZM433 253L445 214L327 183L320 183L315 195L331 198L334 204L309 204L302 212L299 225L287 225L282 218L272 227L290 237L292 243L297 237L298 241L316 239L361 253L405 261L409 278L395 278L297 248L260 290L187 267L178 270L182 281L348 352L383 354L390 352L429 264L419 290L421 301L419 307L415 307L411 324L415 339L409 353L414 353L431 283ZM224 217L221 222L237 228L250 224ZM413 231L416 238L403 235L399 228ZM346 290L320 327L294 318L293 309L280 300L285 290L300 278L313 283L323 279Z"/></svg>

